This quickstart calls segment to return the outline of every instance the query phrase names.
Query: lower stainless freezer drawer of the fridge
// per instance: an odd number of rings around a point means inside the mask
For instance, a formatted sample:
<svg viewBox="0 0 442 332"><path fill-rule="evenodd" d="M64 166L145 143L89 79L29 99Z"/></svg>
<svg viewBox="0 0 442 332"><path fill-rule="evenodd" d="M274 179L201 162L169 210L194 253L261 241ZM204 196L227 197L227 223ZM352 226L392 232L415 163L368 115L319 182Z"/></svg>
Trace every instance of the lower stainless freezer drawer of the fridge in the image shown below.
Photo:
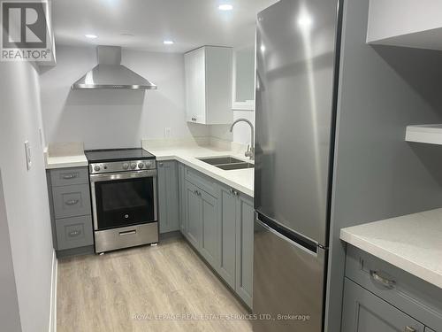
<svg viewBox="0 0 442 332"><path fill-rule="evenodd" d="M322 331L325 257L255 218L254 332Z"/></svg>

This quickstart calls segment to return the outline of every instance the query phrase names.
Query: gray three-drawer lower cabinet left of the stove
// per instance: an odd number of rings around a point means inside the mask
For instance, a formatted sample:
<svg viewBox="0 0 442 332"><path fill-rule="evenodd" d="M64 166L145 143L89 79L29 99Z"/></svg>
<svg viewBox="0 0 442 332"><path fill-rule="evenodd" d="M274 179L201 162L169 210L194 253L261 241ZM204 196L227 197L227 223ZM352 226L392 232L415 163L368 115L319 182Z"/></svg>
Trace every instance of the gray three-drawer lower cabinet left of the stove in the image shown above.
<svg viewBox="0 0 442 332"><path fill-rule="evenodd" d="M57 258L94 252L88 167L47 171L52 242Z"/></svg>

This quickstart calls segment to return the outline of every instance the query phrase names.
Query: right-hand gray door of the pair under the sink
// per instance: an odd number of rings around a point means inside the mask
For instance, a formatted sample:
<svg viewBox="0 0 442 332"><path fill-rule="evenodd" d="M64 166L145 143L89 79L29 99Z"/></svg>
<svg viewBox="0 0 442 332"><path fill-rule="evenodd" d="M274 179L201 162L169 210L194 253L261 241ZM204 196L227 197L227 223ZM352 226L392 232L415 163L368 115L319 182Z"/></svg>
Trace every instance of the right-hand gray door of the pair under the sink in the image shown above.
<svg viewBox="0 0 442 332"><path fill-rule="evenodd" d="M219 261L219 239L217 222L217 198L212 197L202 189L198 189L201 197L202 242L201 253L214 268Z"/></svg>

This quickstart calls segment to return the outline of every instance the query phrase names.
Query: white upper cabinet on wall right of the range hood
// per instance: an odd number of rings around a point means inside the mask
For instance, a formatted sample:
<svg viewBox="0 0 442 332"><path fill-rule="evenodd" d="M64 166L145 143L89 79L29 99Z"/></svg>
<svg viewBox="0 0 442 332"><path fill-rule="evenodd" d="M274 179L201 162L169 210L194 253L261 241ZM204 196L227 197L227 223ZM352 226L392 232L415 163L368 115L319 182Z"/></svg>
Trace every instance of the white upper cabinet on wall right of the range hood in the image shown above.
<svg viewBox="0 0 442 332"><path fill-rule="evenodd" d="M187 121L232 122L232 49L204 46L184 55Z"/></svg>

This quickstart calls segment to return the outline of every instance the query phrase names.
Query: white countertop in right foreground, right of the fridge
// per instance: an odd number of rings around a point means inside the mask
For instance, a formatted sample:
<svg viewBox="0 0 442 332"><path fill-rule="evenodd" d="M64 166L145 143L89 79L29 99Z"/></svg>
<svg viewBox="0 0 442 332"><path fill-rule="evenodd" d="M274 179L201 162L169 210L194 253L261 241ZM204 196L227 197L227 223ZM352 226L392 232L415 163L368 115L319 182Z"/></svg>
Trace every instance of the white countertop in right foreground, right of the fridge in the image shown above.
<svg viewBox="0 0 442 332"><path fill-rule="evenodd" d="M340 238L442 289L442 209L342 228Z"/></svg>

